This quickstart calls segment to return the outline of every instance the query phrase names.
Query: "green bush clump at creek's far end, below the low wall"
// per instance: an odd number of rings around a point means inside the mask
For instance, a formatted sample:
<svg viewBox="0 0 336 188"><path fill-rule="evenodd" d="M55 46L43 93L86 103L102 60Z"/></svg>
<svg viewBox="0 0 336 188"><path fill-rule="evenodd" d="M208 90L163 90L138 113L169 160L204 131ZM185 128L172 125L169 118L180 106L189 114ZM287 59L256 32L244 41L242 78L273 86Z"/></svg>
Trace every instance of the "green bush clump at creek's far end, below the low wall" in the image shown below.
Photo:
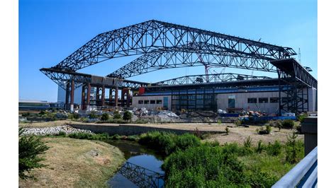
<svg viewBox="0 0 336 188"><path fill-rule="evenodd" d="M177 136L172 133L152 131L146 134L141 134L139 143L158 151L164 151L164 153L169 155L174 151L200 146L201 139L193 134L182 134L181 136Z"/></svg>

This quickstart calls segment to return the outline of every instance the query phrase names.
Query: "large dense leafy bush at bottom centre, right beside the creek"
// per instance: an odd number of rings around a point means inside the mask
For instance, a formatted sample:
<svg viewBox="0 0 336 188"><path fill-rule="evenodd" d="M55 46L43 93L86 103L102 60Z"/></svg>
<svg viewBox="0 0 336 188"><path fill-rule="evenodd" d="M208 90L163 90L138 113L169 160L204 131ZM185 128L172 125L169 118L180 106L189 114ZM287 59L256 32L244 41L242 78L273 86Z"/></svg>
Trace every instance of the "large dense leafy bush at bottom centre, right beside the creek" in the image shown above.
<svg viewBox="0 0 336 188"><path fill-rule="evenodd" d="M243 164L220 146L201 145L169 155L162 165L167 187L220 187L244 183Z"/></svg>

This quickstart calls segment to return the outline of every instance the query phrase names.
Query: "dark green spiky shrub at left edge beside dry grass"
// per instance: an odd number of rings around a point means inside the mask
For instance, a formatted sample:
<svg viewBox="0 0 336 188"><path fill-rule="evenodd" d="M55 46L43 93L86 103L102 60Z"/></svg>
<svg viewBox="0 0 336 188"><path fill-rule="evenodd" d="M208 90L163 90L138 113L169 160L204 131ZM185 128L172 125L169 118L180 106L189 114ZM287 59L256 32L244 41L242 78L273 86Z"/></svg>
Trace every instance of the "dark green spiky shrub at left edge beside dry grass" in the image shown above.
<svg viewBox="0 0 336 188"><path fill-rule="evenodd" d="M22 136L23 129L19 129L18 136L21 138L18 141L18 175L21 179L33 178L25 172L30 172L33 168L42 168L46 165L40 162L45 160L38 155L45 153L49 149L48 146L35 136Z"/></svg>

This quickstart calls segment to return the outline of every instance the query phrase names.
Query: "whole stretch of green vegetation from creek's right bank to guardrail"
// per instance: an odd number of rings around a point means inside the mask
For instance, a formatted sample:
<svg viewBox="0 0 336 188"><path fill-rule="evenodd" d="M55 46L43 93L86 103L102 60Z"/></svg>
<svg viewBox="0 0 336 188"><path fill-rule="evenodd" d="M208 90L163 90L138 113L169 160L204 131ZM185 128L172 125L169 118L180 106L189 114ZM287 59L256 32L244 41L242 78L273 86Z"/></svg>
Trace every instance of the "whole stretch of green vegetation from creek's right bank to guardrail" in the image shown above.
<svg viewBox="0 0 336 188"><path fill-rule="evenodd" d="M293 141L286 143L293 144ZM293 145L292 145L293 146ZM303 145L296 145L303 148ZM252 149L252 139L237 143L202 143L169 155L162 168L166 187L271 187L286 174L285 146L279 141L265 146L262 141ZM298 152L303 158L303 152Z"/></svg>

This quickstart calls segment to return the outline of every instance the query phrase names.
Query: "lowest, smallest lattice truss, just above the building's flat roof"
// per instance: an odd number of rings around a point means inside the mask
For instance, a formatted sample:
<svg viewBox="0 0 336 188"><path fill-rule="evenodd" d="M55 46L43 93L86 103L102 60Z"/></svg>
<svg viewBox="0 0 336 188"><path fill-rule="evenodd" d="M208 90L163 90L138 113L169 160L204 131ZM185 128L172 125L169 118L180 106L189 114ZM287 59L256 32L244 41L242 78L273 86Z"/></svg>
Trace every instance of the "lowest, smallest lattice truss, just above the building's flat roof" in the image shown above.
<svg viewBox="0 0 336 188"><path fill-rule="evenodd" d="M172 85L185 85L196 83L220 83L228 81L248 81L257 79L270 79L267 76L250 76L246 74L200 74L191 76L181 76L166 81L153 83L152 86L172 86Z"/></svg>

